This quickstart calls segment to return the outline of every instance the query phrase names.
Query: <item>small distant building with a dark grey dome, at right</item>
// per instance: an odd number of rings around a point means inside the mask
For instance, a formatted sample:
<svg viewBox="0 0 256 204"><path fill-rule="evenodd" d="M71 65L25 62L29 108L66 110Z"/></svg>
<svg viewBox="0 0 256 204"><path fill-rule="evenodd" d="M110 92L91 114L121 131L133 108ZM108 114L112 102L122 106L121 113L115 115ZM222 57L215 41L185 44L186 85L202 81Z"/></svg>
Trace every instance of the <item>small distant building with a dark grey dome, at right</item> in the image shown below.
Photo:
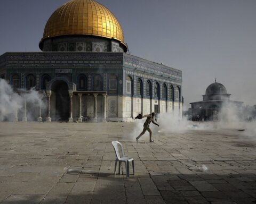
<svg viewBox="0 0 256 204"><path fill-rule="evenodd" d="M193 121L206 121L218 120L218 114L224 105L235 105L241 107L243 102L230 100L231 94L227 94L227 89L223 84L215 82L210 84L203 95L203 100L190 103L192 120Z"/></svg>

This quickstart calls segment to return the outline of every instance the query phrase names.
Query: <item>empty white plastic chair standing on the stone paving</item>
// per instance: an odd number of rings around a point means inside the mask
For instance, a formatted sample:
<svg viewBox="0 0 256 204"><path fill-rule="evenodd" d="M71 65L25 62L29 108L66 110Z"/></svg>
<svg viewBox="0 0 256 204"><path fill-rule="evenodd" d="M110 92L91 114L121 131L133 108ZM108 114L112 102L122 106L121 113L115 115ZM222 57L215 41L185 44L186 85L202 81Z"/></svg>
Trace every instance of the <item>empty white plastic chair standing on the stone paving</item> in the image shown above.
<svg viewBox="0 0 256 204"><path fill-rule="evenodd" d="M133 175L134 175L134 160L133 160L133 158L129 158L129 157L126 157L124 155L124 149L123 149L123 146L122 146L122 144L120 142L112 141L112 145L113 145L113 147L115 149L115 153L116 153L114 177L116 176L116 165L117 165L117 162L119 162L119 169L118 169L118 173L119 174L120 174L121 163L122 162L125 163L126 178L129 178L130 162L132 162L132 170L133 170ZM120 149L121 149L121 154L122 155L119 154L118 145L120 145Z"/></svg>

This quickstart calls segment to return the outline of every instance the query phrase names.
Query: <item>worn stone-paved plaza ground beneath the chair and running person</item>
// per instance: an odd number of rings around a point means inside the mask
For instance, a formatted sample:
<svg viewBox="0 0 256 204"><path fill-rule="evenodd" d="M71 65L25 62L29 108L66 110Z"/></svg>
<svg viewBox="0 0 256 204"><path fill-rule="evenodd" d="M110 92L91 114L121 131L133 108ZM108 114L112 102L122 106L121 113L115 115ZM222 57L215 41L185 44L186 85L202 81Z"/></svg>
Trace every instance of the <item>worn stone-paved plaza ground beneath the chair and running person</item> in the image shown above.
<svg viewBox="0 0 256 204"><path fill-rule="evenodd" d="M133 128L0 123L0 203L256 203L256 142L241 132L122 138ZM114 179L113 140L135 159L130 179Z"/></svg>

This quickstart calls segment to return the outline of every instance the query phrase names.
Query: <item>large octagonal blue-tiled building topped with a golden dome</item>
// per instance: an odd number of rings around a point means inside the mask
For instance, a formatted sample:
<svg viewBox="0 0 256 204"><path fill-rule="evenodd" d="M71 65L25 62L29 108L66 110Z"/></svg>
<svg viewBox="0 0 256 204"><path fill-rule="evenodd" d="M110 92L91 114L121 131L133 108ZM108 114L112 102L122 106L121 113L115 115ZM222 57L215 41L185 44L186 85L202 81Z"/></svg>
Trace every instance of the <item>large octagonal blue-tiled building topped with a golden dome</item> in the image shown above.
<svg viewBox="0 0 256 204"><path fill-rule="evenodd" d="M39 48L0 56L0 77L13 90L45 92L47 108L38 109L38 121L130 121L138 113L182 112L182 72L126 53L121 24L96 1L60 6Z"/></svg>

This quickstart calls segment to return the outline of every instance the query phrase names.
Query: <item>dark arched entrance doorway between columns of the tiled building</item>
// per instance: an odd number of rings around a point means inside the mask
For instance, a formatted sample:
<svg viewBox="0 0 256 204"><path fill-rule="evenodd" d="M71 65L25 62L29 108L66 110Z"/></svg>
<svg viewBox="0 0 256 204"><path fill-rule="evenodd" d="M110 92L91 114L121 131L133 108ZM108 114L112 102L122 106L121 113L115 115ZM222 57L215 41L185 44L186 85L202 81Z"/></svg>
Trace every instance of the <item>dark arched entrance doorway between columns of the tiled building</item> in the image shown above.
<svg viewBox="0 0 256 204"><path fill-rule="evenodd" d="M68 121L70 112L68 84L63 80L56 80L52 83L51 88L52 104L55 104L55 120Z"/></svg>

